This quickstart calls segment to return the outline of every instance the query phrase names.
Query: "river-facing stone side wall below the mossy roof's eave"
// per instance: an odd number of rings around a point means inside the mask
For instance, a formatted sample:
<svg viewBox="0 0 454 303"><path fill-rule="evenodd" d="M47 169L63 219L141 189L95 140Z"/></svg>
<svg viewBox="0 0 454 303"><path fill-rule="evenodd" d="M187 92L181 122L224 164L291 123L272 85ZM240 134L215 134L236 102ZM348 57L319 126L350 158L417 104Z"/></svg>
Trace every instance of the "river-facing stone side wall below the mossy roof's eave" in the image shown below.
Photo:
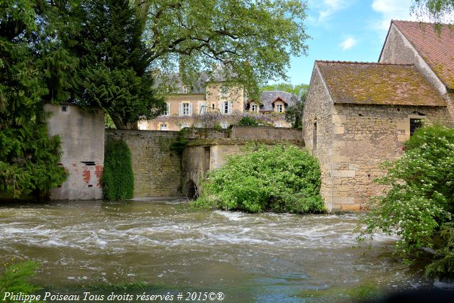
<svg viewBox="0 0 454 303"><path fill-rule="evenodd" d="M331 209L357 210L384 189L373 182L380 165L404 153L411 118L448 123L445 107L335 104L331 153Z"/></svg>

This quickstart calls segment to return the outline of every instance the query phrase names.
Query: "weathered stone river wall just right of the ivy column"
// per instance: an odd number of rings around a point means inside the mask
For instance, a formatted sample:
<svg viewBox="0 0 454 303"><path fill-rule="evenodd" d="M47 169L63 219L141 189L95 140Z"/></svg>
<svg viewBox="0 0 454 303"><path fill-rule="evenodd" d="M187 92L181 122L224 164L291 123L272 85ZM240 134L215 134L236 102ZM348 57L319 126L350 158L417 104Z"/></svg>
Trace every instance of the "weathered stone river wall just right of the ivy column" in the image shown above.
<svg viewBox="0 0 454 303"><path fill-rule="evenodd" d="M181 155L170 149L178 136L176 131L106 131L106 140L121 139L131 150L134 197L181 196Z"/></svg>

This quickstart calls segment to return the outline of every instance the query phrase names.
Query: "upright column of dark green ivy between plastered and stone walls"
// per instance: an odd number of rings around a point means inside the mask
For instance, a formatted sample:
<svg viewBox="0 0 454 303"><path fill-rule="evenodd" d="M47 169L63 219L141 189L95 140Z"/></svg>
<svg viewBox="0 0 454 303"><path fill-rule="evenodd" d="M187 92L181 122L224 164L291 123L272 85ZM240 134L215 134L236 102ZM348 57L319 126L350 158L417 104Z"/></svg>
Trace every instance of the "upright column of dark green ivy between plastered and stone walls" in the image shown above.
<svg viewBox="0 0 454 303"><path fill-rule="evenodd" d="M114 139L106 141L102 188L104 199L107 200L133 198L134 176L131 168L131 152L124 141Z"/></svg>

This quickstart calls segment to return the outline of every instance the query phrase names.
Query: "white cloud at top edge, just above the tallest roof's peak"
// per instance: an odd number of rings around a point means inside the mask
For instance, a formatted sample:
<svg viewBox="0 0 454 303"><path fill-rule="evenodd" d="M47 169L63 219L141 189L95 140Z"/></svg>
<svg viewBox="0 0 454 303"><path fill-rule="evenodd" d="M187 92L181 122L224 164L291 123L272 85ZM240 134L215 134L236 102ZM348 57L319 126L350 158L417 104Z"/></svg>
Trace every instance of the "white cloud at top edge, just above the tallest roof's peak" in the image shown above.
<svg viewBox="0 0 454 303"><path fill-rule="evenodd" d="M380 13L380 19L372 21L372 27L377 31L388 31L391 20L416 21L416 16L410 15L412 0L373 0L372 9ZM421 18L419 18L420 21Z"/></svg>

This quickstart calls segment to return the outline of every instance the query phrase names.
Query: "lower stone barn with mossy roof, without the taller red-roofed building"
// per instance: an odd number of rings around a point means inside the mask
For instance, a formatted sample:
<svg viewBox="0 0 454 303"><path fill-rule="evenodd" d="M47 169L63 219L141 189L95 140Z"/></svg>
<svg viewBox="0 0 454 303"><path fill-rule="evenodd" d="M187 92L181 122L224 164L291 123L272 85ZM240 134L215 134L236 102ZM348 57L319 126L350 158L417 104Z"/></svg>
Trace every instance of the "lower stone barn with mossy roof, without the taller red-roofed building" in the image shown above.
<svg viewBox="0 0 454 303"><path fill-rule="evenodd" d="M382 188L380 164L426 123L450 123L446 101L414 65L316 61L303 117L330 211L358 210Z"/></svg>

